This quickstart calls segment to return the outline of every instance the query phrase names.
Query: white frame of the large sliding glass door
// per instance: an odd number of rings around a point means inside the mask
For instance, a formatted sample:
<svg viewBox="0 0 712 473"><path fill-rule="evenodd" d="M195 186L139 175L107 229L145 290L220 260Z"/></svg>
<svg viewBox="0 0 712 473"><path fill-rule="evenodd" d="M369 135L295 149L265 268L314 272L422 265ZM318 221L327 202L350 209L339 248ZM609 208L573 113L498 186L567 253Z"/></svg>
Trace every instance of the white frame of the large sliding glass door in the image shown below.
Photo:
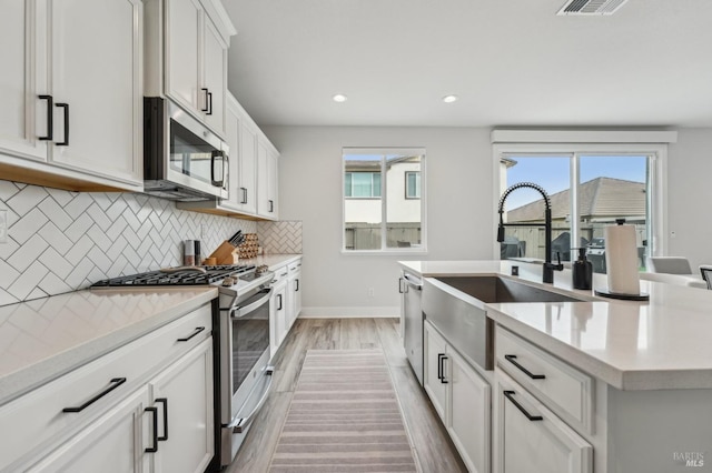
<svg viewBox="0 0 712 473"><path fill-rule="evenodd" d="M507 142L507 143L493 143L493 159L494 159L494 182L498 185L494 185L493 202L498 202L501 197L501 189L506 185L506 175L502 172L500 163L503 159L511 155L567 155L572 158L572 165L570 167L570 182L572 189L570 192L571 209L578 209L577 202L577 187L578 187L578 157L585 155L647 155L649 172L650 172L650 192L647 193L647 207L649 207L649 251L650 255L663 255L668 253L668 144L660 142ZM496 209L492 212L492 228L493 232L496 232L498 225L498 214ZM572 218L572 222L577 219ZM493 233L494 234L494 233ZM572 225L572 241L578 241L578 223ZM496 238L493 236L492 254L494 260L500 260L500 244L496 242Z"/></svg>

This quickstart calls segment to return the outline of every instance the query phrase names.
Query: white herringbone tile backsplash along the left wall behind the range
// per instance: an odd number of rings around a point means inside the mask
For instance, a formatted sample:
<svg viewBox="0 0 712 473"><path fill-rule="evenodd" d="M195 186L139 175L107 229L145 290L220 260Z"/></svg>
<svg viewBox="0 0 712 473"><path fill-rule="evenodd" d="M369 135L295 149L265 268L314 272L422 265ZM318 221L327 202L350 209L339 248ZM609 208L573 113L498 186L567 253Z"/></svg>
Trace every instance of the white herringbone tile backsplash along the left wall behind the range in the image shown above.
<svg viewBox="0 0 712 473"><path fill-rule="evenodd" d="M0 180L2 211L9 229L0 241L0 305L181 264L182 240L201 240L207 254L238 229L257 232L256 222L188 212L145 194Z"/></svg>

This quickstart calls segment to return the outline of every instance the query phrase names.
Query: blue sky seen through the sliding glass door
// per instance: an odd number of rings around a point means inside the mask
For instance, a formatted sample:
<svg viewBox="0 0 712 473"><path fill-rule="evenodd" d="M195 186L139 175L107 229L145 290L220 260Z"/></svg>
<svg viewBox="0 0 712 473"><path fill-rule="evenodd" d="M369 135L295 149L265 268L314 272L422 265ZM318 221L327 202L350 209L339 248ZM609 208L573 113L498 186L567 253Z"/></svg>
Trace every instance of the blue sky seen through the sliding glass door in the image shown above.
<svg viewBox="0 0 712 473"><path fill-rule="evenodd" d="M570 188L568 157L516 157L516 165L507 169L507 187L517 182L534 182L550 195ZM582 155L580 161L581 182L600 177L645 182L646 159L644 155ZM541 199L531 189L518 189L507 197L507 210L516 209Z"/></svg>

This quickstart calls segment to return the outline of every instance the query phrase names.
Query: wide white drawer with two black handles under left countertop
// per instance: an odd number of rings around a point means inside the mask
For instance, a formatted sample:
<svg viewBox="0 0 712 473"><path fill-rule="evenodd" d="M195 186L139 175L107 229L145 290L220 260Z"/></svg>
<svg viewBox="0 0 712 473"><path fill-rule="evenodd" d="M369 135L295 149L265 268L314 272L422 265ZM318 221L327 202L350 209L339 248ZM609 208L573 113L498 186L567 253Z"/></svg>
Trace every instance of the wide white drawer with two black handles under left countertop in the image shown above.
<svg viewBox="0 0 712 473"><path fill-rule="evenodd" d="M3 405L0 425L11 425L12 432L0 442L0 471L22 455L57 445L210 336L211 310L206 304ZM65 412L68 407L78 412Z"/></svg>

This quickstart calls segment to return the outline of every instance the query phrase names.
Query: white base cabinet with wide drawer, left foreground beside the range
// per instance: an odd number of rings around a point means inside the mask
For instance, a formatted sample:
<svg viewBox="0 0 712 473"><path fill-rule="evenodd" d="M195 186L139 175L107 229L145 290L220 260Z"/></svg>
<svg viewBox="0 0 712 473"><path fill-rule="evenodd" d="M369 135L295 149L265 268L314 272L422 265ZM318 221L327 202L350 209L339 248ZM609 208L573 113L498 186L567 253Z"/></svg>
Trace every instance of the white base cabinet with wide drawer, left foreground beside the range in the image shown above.
<svg viewBox="0 0 712 473"><path fill-rule="evenodd" d="M111 471L146 471L141 465L152 465L158 453L145 451L154 446L154 419L165 433L161 396L176 410L171 441L159 447L170 443L171 456L182 449L182 465L189 464L200 456L204 436L214 435L211 343L205 304L2 405L0 425L12 435L0 443L0 471L56 471L55 464L106 471L107 461L117 465ZM214 445L207 447L211 456ZM103 467L90 467L95 461Z"/></svg>

